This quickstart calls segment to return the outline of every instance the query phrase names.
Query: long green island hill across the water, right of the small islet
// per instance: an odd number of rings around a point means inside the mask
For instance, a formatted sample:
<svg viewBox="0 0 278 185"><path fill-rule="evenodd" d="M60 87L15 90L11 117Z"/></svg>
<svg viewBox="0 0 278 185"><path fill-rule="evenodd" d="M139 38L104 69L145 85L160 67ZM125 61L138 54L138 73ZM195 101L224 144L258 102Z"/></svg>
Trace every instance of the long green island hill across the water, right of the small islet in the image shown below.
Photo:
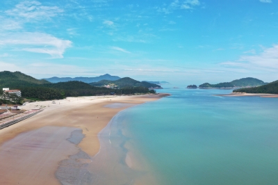
<svg viewBox="0 0 278 185"><path fill-rule="evenodd" d="M234 80L231 82L223 82L217 84L203 83L199 85L199 88L234 88L234 87L254 87L263 86L265 83L259 79L247 77L243 79Z"/></svg>

